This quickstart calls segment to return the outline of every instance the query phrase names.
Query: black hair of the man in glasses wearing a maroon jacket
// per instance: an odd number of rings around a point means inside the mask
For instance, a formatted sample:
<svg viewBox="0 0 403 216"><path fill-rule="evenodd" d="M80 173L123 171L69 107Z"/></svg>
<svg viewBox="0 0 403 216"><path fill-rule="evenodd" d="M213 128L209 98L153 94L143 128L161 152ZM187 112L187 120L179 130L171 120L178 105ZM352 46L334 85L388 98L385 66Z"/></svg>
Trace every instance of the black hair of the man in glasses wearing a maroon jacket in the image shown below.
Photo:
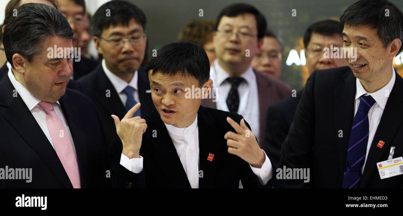
<svg viewBox="0 0 403 216"><path fill-rule="evenodd" d="M245 3L236 3L236 4L231 4L229 6L226 6L224 9L221 10L220 14L218 14L217 20L216 20L216 31L218 30L218 24L221 21L221 18L223 16L227 17L236 17L240 14L245 14L245 13L250 13L255 16L256 19L256 28L258 29L258 39L262 39L264 32L266 31L267 23L266 23L266 18L262 15L262 13L259 12L258 9L253 7L250 4L245 4Z"/></svg>

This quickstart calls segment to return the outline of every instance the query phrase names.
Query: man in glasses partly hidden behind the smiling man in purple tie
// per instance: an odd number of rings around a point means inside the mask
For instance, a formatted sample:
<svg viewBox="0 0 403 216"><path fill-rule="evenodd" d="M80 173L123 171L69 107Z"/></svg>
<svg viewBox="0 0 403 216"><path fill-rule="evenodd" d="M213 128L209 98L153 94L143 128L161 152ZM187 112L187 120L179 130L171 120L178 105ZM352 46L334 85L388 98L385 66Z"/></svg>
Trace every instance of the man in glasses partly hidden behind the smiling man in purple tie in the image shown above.
<svg viewBox="0 0 403 216"><path fill-rule="evenodd" d="M343 46L343 28L338 21L324 20L310 25L303 36L308 71L347 66L344 58L324 58L323 48ZM318 48L319 46L319 48ZM280 148L287 137L303 89L270 106L266 117L265 145L274 164L280 160Z"/></svg>

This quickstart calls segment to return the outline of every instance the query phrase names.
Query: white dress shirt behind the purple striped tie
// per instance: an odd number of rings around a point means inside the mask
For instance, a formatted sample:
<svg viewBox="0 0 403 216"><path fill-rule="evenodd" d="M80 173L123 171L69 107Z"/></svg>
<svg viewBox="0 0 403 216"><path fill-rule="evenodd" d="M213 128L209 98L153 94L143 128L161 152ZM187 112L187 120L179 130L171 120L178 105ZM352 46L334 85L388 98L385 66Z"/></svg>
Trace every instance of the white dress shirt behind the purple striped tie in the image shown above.
<svg viewBox="0 0 403 216"><path fill-rule="evenodd" d="M368 135L367 153L365 156L364 166L361 167L361 174L364 172L364 167L367 162L368 153L370 152L372 141L374 140L376 130L378 129L380 118L382 117L383 110L386 106L386 102L388 101L393 85L395 85L395 80L396 75L395 71L393 71L393 76L391 80L388 82L388 84L386 84L378 91L368 93L360 83L359 79L356 78L355 85L357 87L357 90L355 91L354 116L357 113L361 96L370 95L375 100L375 104L368 111L369 135Z"/></svg>

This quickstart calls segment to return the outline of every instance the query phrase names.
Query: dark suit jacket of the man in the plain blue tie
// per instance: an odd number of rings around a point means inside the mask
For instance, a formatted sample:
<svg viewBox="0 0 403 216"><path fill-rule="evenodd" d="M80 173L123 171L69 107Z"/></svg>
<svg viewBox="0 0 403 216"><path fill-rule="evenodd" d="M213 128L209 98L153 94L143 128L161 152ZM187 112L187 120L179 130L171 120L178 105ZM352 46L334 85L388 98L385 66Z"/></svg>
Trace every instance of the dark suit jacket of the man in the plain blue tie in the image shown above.
<svg viewBox="0 0 403 216"><path fill-rule="evenodd" d="M146 92L147 90L150 92L150 82L148 81L148 77L145 76L143 67L140 67L137 73L141 115L146 116L154 109L151 93ZM78 82L83 89L83 93L87 94L97 106L101 122L106 131L108 143L112 143L115 139L118 139L118 135L114 120L110 115L114 114L122 119L127 111L116 89L102 69L102 64L99 64L95 71L84 76ZM106 96L107 90L110 90L109 97Z"/></svg>

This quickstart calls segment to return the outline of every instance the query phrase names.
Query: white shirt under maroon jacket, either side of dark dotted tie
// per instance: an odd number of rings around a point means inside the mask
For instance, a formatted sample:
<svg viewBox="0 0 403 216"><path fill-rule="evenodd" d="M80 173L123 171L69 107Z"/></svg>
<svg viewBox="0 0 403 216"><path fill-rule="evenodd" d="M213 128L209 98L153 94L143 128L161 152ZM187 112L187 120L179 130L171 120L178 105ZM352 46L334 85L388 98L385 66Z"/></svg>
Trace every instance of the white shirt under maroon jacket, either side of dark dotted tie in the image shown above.
<svg viewBox="0 0 403 216"><path fill-rule="evenodd" d="M218 60L214 60L210 68L210 79L213 80L217 109L227 112L229 109L226 104L226 98L231 90L231 83L226 79L229 77L229 73L218 64ZM239 108L237 113L245 118L253 134L259 140L259 92L256 74L253 72L252 66L249 66L241 77L246 82L243 81L238 86Z"/></svg>

